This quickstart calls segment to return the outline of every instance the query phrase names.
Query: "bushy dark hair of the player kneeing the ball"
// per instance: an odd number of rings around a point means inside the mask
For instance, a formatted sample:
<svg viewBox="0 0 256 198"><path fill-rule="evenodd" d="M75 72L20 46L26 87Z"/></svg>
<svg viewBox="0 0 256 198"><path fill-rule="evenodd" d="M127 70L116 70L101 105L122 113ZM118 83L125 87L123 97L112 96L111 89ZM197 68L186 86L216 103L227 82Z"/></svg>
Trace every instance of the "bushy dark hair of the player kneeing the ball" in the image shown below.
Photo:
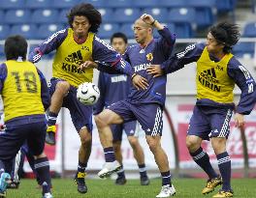
<svg viewBox="0 0 256 198"><path fill-rule="evenodd" d="M102 16L91 4L81 3L73 7L69 14L67 14L69 25L73 28L72 23L76 15L83 15L88 18L91 27L89 32L97 33L102 23Z"/></svg>

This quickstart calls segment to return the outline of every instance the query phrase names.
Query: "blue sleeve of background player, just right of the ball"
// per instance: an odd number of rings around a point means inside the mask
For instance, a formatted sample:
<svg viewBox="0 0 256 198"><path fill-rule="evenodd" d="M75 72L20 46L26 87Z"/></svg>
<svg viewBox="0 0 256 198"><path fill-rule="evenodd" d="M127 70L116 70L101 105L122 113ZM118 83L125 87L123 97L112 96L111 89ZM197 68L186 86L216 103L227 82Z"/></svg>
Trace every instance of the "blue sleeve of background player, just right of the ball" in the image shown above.
<svg viewBox="0 0 256 198"><path fill-rule="evenodd" d="M105 83L105 74L104 72L100 72L99 80L98 80L98 88L100 90L100 98L98 99L97 103L93 108L93 114L97 115L103 111L105 107L105 99L106 99L106 83Z"/></svg>

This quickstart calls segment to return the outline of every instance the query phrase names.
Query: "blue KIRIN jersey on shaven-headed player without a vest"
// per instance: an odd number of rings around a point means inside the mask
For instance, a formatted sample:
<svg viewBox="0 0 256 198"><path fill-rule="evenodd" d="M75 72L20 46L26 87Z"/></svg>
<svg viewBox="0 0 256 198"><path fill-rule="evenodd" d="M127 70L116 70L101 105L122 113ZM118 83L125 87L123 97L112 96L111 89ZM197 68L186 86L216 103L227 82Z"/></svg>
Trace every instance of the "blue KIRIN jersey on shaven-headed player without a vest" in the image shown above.
<svg viewBox="0 0 256 198"><path fill-rule="evenodd" d="M129 101L136 103L159 103L164 106L166 99L166 75L153 77L146 72L149 65L161 64L171 56L176 35L167 27L159 30L159 39L153 39L145 47L135 44L127 48L123 59L131 64L134 72L147 79L149 86L146 90L137 90L134 86L128 96Z"/></svg>

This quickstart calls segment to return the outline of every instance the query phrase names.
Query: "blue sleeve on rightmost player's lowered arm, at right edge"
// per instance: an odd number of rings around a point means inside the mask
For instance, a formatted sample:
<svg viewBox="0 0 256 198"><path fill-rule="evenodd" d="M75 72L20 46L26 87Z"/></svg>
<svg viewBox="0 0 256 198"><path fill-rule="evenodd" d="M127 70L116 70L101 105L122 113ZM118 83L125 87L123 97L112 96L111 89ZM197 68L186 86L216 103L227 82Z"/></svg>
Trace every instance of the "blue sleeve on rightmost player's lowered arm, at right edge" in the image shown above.
<svg viewBox="0 0 256 198"><path fill-rule="evenodd" d="M248 115L252 111L256 102L256 84L251 76L236 58L232 58L228 65L228 75L240 87L240 102L236 111L243 115Z"/></svg>

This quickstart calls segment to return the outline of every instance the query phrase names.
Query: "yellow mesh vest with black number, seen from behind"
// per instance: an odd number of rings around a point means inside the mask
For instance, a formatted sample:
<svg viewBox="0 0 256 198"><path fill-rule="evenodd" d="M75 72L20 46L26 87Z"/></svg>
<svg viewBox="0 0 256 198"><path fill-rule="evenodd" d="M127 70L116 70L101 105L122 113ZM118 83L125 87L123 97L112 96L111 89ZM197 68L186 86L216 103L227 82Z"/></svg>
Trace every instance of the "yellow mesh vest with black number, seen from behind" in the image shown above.
<svg viewBox="0 0 256 198"><path fill-rule="evenodd" d="M41 81L36 67L28 62L7 61L2 98L5 122L20 116L45 114Z"/></svg>

